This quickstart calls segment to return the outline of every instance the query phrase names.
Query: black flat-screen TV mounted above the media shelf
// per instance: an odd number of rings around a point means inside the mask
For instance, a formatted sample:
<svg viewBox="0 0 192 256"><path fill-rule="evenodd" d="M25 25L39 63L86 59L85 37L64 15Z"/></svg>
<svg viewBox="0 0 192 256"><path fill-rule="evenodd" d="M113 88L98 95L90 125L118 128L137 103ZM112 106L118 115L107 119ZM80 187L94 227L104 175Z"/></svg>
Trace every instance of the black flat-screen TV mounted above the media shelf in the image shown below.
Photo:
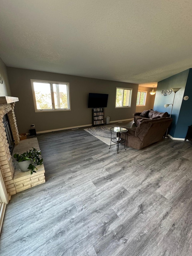
<svg viewBox="0 0 192 256"><path fill-rule="evenodd" d="M108 94L89 93L88 107L107 107Z"/></svg>

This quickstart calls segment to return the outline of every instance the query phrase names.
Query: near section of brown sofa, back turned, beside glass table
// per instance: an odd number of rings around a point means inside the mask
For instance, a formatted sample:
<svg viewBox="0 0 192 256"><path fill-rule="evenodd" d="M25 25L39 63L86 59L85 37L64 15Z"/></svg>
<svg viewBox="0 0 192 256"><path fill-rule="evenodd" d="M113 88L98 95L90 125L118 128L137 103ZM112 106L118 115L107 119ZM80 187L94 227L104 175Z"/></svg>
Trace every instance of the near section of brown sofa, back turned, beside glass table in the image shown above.
<svg viewBox="0 0 192 256"><path fill-rule="evenodd" d="M125 145L134 149L142 149L155 142L161 141L167 128L171 125L173 119L170 117L161 117L157 119L145 119L135 128L128 128ZM125 139L125 133L121 134Z"/></svg>

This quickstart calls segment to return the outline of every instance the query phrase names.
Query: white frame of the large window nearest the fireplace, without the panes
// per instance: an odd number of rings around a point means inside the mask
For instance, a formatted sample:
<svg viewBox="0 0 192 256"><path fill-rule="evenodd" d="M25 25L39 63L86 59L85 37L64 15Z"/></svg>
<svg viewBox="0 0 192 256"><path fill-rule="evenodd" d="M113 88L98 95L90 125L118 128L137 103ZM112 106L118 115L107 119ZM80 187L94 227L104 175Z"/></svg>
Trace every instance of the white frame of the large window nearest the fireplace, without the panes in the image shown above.
<svg viewBox="0 0 192 256"><path fill-rule="evenodd" d="M53 109L42 109L39 110L37 109L37 104L36 104L36 98L35 98L35 90L34 90L34 86L33 86L33 82L37 82L37 83L49 83L51 86L51 99L52 99L52 108ZM67 97L68 97L68 102L69 102L69 108L67 109L55 109L55 101L54 101L54 93L53 93L53 83L55 84L64 84L67 85ZM64 83L64 82L57 82L57 81L47 81L47 80L35 80L35 79L31 79L31 86L32 86L32 94L33 94L33 102L34 102L34 107L35 107L35 112L52 112L52 111L68 111L71 110L71 105L70 105L70 89L69 89L69 83Z"/></svg>

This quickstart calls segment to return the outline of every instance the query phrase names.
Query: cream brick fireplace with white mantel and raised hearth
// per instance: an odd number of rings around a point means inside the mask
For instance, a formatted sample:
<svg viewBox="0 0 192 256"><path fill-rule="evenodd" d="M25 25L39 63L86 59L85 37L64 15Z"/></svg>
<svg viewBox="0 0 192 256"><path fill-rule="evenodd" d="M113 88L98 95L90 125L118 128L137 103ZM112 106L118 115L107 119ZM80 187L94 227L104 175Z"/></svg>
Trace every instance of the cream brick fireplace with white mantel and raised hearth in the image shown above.
<svg viewBox="0 0 192 256"><path fill-rule="evenodd" d="M44 165L37 166L37 172L30 175L29 172L21 172L15 159L10 154L7 134L4 128L3 118L7 114L10 128L13 134L15 148L13 153L22 154L32 147L39 149L37 138L19 141L19 132L14 113L16 97L0 97L0 178L3 179L7 195L14 195L17 192L26 190L45 182Z"/></svg>

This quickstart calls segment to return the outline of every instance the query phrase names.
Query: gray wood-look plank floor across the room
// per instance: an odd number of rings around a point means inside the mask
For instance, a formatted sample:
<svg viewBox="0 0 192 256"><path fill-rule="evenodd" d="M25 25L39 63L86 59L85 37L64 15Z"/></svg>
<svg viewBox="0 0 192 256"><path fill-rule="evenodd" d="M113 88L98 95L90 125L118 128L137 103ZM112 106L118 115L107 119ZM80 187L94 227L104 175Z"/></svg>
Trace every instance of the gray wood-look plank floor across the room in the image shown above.
<svg viewBox="0 0 192 256"><path fill-rule="evenodd" d="M79 129L38 142L46 183L11 197L1 256L192 255L189 141L117 154Z"/></svg>

